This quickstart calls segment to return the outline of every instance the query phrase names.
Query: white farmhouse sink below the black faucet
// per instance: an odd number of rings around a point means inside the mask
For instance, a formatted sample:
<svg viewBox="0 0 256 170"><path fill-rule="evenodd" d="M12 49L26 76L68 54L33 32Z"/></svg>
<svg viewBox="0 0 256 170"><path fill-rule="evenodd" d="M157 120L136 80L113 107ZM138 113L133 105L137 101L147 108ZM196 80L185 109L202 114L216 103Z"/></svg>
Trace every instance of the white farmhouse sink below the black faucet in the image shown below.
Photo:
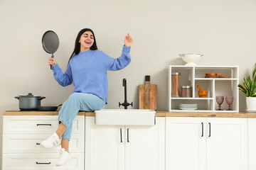
<svg viewBox="0 0 256 170"><path fill-rule="evenodd" d="M95 125L154 125L154 110L102 109L95 111Z"/></svg>

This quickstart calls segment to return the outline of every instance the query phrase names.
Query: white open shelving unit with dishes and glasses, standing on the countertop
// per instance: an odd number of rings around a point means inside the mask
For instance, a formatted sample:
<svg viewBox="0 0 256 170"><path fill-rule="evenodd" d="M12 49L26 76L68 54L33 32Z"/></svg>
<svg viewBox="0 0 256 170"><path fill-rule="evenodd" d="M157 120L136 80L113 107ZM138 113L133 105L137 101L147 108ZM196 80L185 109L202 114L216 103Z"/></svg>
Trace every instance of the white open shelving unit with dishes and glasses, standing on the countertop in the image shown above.
<svg viewBox="0 0 256 170"><path fill-rule="evenodd" d="M171 73L180 72L179 91L181 86L191 86L191 98L171 97ZM223 76L230 78L205 78L206 73L221 73ZM186 65L169 65L168 66L168 109L171 112L239 112L239 67L238 66L186 66ZM206 98L199 98L197 85L203 90L208 91ZM181 93L180 93L181 94ZM221 108L218 111L216 96L224 96ZM233 104L228 110L228 104L225 96L233 96ZM198 104L196 110L180 110L179 103Z"/></svg>

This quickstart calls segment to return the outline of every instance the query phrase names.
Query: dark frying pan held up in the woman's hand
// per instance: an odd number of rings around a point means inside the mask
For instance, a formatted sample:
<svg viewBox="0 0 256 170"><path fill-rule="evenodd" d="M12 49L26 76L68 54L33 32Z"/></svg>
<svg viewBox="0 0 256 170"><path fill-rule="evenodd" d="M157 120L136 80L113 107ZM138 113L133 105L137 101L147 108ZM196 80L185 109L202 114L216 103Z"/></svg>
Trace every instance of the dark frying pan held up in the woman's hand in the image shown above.
<svg viewBox="0 0 256 170"><path fill-rule="evenodd" d="M43 34L42 38L42 45L43 50L45 50L47 53L51 54L51 58L54 57L54 52L58 50L60 42L58 39L58 35L53 30L48 30L46 33ZM53 66L50 65L50 69L53 69Z"/></svg>

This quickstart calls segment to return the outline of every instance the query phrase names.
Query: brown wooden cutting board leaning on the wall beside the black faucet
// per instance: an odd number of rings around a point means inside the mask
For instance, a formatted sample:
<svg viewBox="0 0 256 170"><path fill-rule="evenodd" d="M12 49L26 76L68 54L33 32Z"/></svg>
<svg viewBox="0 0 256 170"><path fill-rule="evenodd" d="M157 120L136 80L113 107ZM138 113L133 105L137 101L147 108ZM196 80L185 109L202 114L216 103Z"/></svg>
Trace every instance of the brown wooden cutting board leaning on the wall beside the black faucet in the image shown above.
<svg viewBox="0 0 256 170"><path fill-rule="evenodd" d="M139 84L139 109L156 110L156 94L156 84L150 84L150 81L146 81L145 84Z"/></svg>

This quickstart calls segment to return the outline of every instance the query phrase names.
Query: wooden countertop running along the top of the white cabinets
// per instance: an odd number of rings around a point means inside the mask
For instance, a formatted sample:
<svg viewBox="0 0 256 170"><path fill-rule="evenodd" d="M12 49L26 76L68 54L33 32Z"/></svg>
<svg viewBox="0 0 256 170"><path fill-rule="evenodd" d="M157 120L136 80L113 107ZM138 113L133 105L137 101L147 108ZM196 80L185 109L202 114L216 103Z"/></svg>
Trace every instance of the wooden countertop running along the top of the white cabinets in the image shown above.
<svg viewBox="0 0 256 170"><path fill-rule="evenodd" d="M58 115L58 111L5 111L4 115ZM80 111L78 115L95 116L95 113ZM202 113L156 111L156 117L256 118L256 113Z"/></svg>

